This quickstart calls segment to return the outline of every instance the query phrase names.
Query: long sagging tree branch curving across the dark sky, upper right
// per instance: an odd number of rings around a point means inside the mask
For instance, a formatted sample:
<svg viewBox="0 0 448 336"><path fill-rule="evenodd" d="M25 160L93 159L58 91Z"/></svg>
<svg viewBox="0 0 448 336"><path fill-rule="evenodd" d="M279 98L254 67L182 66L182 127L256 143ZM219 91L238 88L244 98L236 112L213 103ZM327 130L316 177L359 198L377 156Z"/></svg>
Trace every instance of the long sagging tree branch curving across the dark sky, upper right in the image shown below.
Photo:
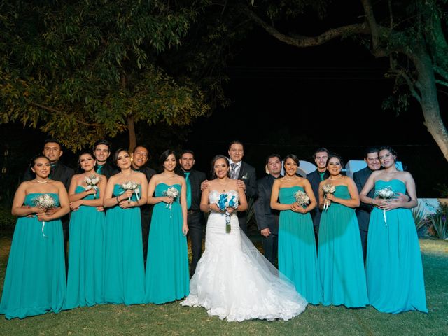
<svg viewBox="0 0 448 336"><path fill-rule="evenodd" d="M334 38L353 35L353 34L370 34L370 29L365 23L354 23L352 25L346 25L342 27L337 27L333 29L329 29L324 33L318 36L287 36L282 34L280 31L272 27L272 25L267 24L261 18L258 17L252 10L246 8L245 6L241 6L241 9L244 13L251 18L251 20L255 21L258 25L260 25L268 34L274 36L279 41L284 43L295 45L300 48L314 47L316 45L322 45Z"/></svg>

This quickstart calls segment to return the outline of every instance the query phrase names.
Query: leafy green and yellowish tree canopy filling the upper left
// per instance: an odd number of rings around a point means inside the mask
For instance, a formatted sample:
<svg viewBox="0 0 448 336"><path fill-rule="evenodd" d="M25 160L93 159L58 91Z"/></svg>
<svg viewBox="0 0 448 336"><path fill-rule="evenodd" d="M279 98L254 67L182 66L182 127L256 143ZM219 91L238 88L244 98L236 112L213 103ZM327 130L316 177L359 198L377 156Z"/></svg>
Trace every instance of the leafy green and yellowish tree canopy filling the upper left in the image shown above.
<svg viewBox="0 0 448 336"><path fill-rule="evenodd" d="M0 123L40 127L71 149L133 123L186 125L204 94L156 65L200 10L165 1L0 4Z"/></svg>

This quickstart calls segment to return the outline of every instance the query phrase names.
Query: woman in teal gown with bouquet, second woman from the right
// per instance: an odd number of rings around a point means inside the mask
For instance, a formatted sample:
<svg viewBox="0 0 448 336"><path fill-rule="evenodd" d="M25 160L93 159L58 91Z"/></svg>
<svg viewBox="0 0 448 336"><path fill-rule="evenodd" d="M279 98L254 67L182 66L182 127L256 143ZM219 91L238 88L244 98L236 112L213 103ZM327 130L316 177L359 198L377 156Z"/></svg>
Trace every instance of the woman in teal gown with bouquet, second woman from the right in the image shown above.
<svg viewBox="0 0 448 336"><path fill-rule="evenodd" d="M352 179L341 174L339 156L328 156L327 170L330 176L319 184L319 204L323 207L318 237L322 303L365 307L368 299L363 250L354 209L360 203L358 189ZM334 190L325 194L328 186Z"/></svg>

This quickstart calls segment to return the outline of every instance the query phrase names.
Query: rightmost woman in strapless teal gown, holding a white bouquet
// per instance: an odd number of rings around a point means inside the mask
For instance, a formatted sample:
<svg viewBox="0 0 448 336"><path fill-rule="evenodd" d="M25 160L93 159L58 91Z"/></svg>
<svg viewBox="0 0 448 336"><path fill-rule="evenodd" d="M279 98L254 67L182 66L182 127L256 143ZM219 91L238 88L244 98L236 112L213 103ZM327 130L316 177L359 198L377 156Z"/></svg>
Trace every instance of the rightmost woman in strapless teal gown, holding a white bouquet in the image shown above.
<svg viewBox="0 0 448 336"><path fill-rule="evenodd" d="M395 151L379 148L384 170L373 172L361 190L361 200L373 204L367 236L367 288L370 304L384 313L419 310L425 313L425 283L419 239L411 208L417 205L415 182L408 172L395 167ZM367 196L369 191L392 190L409 195L408 202Z"/></svg>

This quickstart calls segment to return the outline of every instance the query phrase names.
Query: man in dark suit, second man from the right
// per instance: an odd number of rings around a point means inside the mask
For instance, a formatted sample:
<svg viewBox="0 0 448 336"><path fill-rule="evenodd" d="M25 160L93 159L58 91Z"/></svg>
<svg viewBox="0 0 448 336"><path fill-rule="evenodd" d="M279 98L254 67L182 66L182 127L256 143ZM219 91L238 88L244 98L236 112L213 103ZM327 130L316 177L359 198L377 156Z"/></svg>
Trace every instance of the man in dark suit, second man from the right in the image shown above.
<svg viewBox="0 0 448 336"><path fill-rule="evenodd" d="M317 202L319 202L319 183L328 178L328 155L330 155L330 152L327 148L318 148L313 155L317 169L314 172L307 174L307 179L309 183L311 183L311 188L313 189L314 197L316 197ZM316 236L316 246L319 235L319 223L321 223L321 213L322 211L318 206L311 210L311 218L313 218L314 225L314 235Z"/></svg>

